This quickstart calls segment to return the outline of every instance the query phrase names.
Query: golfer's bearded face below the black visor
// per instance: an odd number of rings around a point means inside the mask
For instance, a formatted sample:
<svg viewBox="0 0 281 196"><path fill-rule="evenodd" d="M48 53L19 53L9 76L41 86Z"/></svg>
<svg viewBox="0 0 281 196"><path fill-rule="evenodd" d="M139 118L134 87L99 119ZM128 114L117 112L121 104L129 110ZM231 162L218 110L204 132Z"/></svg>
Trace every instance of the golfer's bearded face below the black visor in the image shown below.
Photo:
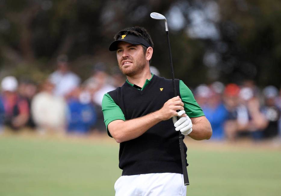
<svg viewBox="0 0 281 196"><path fill-rule="evenodd" d="M122 41L118 44L116 54L119 69L127 76L140 73L148 63L141 45Z"/></svg>

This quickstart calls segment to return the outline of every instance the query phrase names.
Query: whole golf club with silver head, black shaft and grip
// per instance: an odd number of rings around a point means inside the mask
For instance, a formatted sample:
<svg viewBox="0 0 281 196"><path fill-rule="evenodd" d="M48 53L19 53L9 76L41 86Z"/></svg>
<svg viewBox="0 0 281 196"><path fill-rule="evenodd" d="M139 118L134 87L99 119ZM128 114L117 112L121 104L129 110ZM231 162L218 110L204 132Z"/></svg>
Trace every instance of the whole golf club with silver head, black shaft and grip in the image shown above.
<svg viewBox="0 0 281 196"><path fill-rule="evenodd" d="M174 68L173 68L173 63L172 63L172 55L171 55L171 46L170 46L170 39L169 39L169 30L168 30L168 23L167 19L165 16L162 14L159 14L157 12L152 12L150 14L150 17L156 20L164 20L165 21L165 31L167 34L167 42L168 42L168 49L169 49L169 56L170 56L170 65L171 65L171 74L172 74L172 81L173 81L173 88L174 88L174 96L177 96L177 91L176 91L176 84L174 81ZM179 142L180 142L180 151L181 151L181 164L182 164L182 170L183 170L183 175L184 175L184 185L189 185L189 180L188 180L188 174L187 174L187 166L186 166L186 158L185 158L185 153L184 153L184 141L183 141L184 136L181 134L179 131Z"/></svg>

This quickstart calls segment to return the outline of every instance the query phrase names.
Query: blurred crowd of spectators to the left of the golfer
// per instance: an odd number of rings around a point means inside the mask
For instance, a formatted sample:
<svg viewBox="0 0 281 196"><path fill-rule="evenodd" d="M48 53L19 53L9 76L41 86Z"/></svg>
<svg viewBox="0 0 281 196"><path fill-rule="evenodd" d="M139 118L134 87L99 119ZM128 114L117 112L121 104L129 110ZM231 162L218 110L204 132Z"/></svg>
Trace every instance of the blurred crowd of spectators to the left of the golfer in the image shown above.
<svg viewBox="0 0 281 196"><path fill-rule="evenodd" d="M18 131L28 127L38 133L85 135L105 132L103 95L125 82L117 69L107 73L104 63L94 65L89 78L69 69L67 56L57 58L56 70L42 84L6 76L1 81L0 127Z"/></svg>

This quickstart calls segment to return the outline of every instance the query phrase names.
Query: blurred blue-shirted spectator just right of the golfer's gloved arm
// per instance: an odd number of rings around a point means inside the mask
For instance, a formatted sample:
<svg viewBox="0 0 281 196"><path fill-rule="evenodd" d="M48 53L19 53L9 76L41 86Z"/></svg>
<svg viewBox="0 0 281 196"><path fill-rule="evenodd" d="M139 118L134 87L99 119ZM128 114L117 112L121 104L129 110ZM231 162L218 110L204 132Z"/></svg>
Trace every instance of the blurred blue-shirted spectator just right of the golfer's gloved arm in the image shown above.
<svg viewBox="0 0 281 196"><path fill-rule="evenodd" d="M228 117L228 112L221 99L223 90L224 85L221 82L214 82L207 90L210 93L207 96L208 102L202 106L203 112L212 126L211 139L224 139L224 122Z"/></svg>

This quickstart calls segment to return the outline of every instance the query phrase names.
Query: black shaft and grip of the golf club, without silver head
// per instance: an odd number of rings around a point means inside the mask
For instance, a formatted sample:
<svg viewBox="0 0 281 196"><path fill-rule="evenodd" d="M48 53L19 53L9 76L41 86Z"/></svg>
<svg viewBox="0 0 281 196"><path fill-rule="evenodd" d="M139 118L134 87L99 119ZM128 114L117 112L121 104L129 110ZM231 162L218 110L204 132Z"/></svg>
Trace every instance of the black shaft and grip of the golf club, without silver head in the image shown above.
<svg viewBox="0 0 281 196"><path fill-rule="evenodd" d="M174 96L177 96L176 91L176 84L174 78L174 68L172 62L172 54L171 54L171 46L170 46L170 39L169 39L169 31L166 31L167 34L167 42L168 42L168 49L169 49L169 57L170 57L170 66L171 66L171 74L172 74L172 81L173 81L173 88L174 88ZM186 158L184 153L184 136L179 131L179 142L180 142L180 152L181 152L181 165L182 165L182 172L184 175L184 185L189 185L188 174L187 174L187 166L186 166Z"/></svg>

